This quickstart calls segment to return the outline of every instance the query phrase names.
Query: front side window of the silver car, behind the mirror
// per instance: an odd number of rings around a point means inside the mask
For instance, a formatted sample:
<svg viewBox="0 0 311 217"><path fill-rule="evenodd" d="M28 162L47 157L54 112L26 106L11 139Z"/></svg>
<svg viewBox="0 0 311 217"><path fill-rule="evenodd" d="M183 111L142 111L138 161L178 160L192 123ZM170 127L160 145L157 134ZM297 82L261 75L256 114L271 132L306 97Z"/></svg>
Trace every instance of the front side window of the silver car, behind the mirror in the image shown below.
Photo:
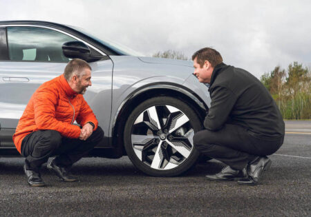
<svg viewBox="0 0 311 217"><path fill-rule="evenodd" d="M8 48L12 61L68 62L62 45L77 41L66 34L37 27L8 27Z"/></svg>

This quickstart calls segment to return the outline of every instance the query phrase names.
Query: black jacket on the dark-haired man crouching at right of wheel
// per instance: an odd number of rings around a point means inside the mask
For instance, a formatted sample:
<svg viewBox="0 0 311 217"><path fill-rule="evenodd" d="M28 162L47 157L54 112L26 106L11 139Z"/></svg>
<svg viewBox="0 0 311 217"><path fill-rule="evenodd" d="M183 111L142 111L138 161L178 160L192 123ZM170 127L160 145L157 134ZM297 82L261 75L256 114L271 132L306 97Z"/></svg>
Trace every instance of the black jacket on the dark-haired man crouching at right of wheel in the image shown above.
<svg viewBox="0 0 311 217"><path fill-rule="evenodd" d="M220 63L209 85L211 107L204 121L207 130L220 130L225 123L232 123L258 138L285 134L281 112L270 92L249 72Z"/></svg>

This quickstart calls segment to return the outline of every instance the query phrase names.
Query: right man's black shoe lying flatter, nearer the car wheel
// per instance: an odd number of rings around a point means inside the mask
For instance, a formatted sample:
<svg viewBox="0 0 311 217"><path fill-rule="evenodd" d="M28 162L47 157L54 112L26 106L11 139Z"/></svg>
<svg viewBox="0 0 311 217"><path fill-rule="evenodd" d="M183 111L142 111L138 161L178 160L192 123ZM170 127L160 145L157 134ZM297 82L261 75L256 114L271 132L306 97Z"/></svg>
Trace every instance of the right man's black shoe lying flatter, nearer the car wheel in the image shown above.
<svg viewBox="0 0 311 217"><path fill-rule="evenodd" d="M224 167L220 172L218 172L218 174L206 176L206 178L209 180L238 180L240 178L246 177L246 169L232 169L229 166Z"/></svg>

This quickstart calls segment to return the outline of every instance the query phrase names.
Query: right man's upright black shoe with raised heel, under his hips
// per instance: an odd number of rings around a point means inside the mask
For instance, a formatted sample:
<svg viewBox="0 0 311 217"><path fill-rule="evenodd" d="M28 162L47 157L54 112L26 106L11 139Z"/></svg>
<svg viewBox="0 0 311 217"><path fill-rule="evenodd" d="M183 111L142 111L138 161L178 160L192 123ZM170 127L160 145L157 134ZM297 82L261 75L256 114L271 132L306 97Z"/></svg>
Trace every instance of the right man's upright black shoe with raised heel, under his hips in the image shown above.
<svg viewBox="0 0 311 217"><path fill-rule="evenodd" d="M264 157L258 157L254 161L247 165L248 178L238 180L240 185L258 185L259 179L263 175L263 172L270 168L272 161Z"/></svg>

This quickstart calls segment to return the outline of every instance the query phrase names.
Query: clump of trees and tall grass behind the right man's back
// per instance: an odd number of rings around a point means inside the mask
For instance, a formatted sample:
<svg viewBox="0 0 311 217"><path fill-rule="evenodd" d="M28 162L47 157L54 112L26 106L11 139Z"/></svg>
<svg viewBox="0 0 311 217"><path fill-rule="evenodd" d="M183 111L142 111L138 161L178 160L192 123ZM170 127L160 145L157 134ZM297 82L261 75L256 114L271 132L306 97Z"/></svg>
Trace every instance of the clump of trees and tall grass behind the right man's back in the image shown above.
<svg viewBox="0 0 311 217"><path fill-rule="evenodd" d="M287 73L279 66L261 76L261 82L279 105L283 118L311 118L311 71L294 62Z"/></svg>

